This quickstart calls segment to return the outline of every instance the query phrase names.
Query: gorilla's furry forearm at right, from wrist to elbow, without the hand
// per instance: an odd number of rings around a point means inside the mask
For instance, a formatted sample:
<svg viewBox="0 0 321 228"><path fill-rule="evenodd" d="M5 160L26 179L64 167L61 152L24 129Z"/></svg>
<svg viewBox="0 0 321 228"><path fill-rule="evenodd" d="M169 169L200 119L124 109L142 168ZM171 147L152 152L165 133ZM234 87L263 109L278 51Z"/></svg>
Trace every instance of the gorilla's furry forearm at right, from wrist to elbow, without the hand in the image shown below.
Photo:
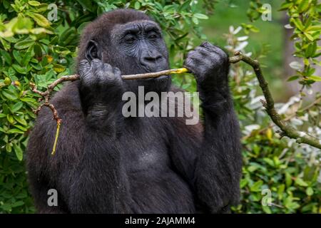
<svg viewBox="0 0 321 228"><path fill-rule="evenodd" d="M195 186L210 212L224 212L225 206L238 202L240 194L240 130L228 93L228 88L201 93L205 124Z"/></svg>

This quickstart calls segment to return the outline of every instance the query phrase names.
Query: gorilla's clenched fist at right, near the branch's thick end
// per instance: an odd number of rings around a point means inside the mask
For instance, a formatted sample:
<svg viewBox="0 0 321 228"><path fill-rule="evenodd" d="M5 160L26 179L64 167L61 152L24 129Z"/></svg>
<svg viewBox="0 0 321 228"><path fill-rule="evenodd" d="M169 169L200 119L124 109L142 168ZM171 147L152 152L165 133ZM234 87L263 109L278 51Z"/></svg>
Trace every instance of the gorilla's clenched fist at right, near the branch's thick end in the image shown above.
<svg viewBox="0 0 321 228"><path fill-rule="evenodd" d="M184 66L194 74L200 92L225 90L228 85L228 55L218 46L203 42L188 52Z"/></svg>

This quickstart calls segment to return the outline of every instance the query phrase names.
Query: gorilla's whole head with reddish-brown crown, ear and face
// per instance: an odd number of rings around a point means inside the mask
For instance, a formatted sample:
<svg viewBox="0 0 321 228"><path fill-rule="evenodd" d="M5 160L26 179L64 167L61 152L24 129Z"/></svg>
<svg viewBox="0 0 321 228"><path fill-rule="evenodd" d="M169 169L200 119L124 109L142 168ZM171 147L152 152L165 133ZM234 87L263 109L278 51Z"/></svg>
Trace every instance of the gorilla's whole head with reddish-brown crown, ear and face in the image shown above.
<svg viewBox="0 0 321 228"><path fill-rule="evenodd" d="M161 28L142 12L119 9L101 15L86 26L79 45L78 62L100 58L122 75L163 71L169 68ZM126 81L128 90L165 91L170 76Z"/></svg>

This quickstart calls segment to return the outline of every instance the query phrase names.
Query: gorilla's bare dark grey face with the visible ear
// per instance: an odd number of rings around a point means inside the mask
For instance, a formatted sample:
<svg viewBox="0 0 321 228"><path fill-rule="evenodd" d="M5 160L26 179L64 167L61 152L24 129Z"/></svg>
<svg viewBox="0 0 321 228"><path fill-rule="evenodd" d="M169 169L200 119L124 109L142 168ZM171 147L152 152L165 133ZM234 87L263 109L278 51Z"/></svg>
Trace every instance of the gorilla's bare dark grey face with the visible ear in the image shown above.
<svg viewBox="0 0 321 228"><path fill-rule="evenodd" d="M106 37L106 46L99 47L95 41L88 45L89 58L101 58L116 66L122 75L163 71L169 68L168 51L163 41L161 28L153 21L131 21L116 24ZM101 42L99 42L101 43ZM126 81L129 90L164 91L170 85L170 76Z"/></svg>

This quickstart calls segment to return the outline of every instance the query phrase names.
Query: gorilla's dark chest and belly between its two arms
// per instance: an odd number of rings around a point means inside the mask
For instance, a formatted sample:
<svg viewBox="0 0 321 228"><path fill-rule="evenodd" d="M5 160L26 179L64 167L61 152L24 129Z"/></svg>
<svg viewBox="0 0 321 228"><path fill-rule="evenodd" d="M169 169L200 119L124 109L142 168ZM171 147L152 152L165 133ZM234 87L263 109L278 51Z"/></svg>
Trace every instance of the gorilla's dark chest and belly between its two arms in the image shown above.
<svg viewBox="0 0 321 228"><path fill-rule="evenodd" d="M120 140L133 213L194 212L193 195L171 166L168 138L157 119L127 126Z"/></svg>

